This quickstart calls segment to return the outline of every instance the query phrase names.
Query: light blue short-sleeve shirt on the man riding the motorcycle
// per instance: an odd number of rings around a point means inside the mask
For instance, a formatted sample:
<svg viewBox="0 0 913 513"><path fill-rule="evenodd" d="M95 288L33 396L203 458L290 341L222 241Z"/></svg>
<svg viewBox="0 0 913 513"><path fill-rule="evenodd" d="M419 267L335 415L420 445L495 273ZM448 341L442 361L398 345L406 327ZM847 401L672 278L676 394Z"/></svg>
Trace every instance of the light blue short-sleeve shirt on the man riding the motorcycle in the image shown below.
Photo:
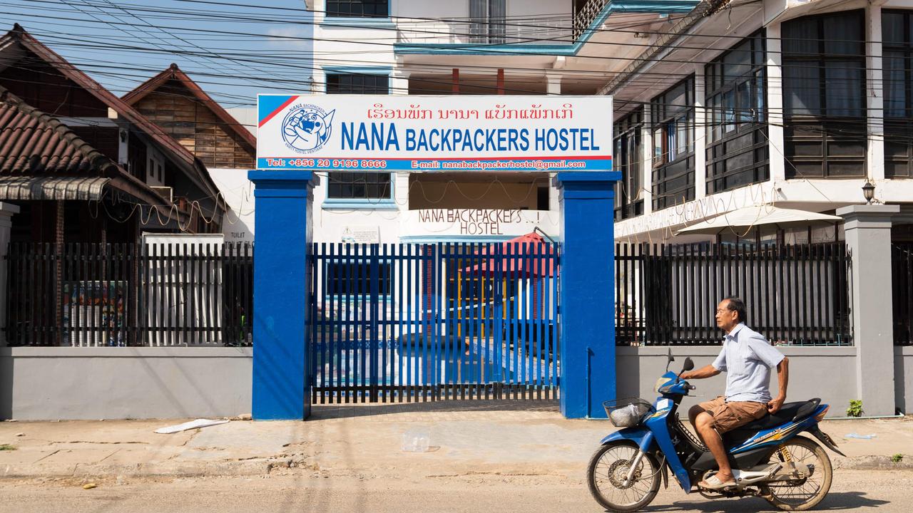
<svg viewBox="0 0 913 513"><path fill-rule="evenodd" d="M713 367L726 372L726 401L771 401L771 369L783 360L761 333L740 323L726 335Z"/></svg>

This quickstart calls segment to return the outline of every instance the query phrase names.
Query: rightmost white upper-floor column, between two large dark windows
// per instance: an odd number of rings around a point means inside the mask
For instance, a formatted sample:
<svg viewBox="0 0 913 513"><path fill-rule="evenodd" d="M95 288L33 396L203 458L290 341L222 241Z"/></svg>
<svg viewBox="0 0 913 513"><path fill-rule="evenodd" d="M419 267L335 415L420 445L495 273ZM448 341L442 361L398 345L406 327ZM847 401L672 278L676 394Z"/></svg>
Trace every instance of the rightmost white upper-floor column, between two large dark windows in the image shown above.
<svg viewBox="0 0 913 513"><path fill-rule="evenodd" d="M866 110L868 112L867 175L885 179L885 94L881 70L881 7L866 9Z"/></svg>

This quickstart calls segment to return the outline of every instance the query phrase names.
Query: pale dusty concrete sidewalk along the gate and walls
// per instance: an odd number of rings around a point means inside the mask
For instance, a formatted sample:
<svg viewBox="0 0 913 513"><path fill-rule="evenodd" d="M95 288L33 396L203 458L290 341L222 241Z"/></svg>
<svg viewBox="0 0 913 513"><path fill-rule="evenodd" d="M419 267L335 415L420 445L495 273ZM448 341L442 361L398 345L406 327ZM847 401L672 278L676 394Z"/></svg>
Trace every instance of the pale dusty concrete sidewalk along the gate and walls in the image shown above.
<svg viewBox="0 0 913 513"><path fill-rule="evenodd" d="M320 476L425 478L580 477L604 421L566 420L551 404L419 403L315 406L307 422L233 421L155 434L186 419L0 423L0 476ZM834 466L913 468L913 416L825 421L848 456ZM846 434L875 434L870 440ZM426 435L426 452L406 452L404 435ZM408 436L407 436L408 437ZM895 464L890 456L905 454Z"/></svg>

